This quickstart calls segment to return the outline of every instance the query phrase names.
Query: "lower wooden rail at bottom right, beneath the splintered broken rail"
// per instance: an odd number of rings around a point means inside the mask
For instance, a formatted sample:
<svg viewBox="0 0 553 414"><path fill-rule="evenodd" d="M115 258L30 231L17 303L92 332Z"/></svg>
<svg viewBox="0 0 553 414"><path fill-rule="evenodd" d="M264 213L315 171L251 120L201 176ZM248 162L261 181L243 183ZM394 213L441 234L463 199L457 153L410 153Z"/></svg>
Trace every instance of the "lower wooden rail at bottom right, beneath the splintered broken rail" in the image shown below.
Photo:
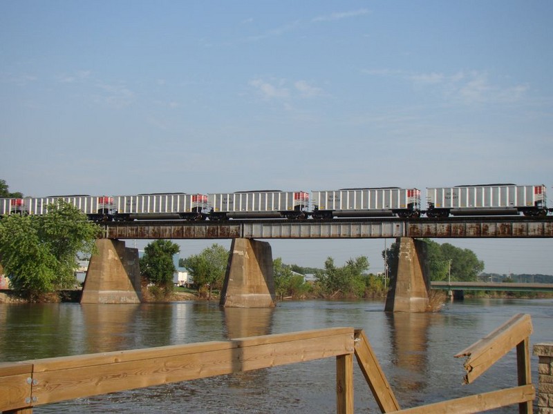
<svg viewBox="0 0 553 414"><path fill-rule="evenodd" d="M427 404L413 408L406 408L394 413L402 414L470 414L480 413L481 411L492 410L494 408L518 404L534 400L536 390L532 384L507 388L499 391L490 391L469 395L468 397L456 398Z"/></svg>

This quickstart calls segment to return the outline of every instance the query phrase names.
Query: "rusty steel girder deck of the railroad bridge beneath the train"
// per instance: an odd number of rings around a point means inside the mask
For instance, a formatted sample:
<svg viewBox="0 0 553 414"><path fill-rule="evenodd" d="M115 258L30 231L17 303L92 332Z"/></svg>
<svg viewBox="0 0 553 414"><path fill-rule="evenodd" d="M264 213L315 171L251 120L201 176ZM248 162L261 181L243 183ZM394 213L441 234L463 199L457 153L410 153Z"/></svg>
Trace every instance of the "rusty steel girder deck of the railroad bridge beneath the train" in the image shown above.
<svg viewBox="0 0 553 414"><path fill-rule="evenodd" d="M396 237L553 237L553 217L109 222L109 239L377 239Z"/></svg>

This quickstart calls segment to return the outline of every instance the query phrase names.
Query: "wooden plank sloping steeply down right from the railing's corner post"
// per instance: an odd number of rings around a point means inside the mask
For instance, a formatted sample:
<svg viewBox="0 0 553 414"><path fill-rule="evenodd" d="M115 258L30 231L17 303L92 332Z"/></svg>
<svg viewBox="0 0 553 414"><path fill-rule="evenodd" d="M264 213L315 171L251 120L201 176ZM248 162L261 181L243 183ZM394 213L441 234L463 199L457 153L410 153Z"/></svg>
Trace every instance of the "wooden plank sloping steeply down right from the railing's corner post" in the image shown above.
<svg viewBox="0 0 553 414"><path fill-rule="evenodd" d="M380 368L371 344L361 329L355 330L355 357L380 411L390 413L399 410L400 404L397 402L388 380L386 380L384 371Z"/></svg>

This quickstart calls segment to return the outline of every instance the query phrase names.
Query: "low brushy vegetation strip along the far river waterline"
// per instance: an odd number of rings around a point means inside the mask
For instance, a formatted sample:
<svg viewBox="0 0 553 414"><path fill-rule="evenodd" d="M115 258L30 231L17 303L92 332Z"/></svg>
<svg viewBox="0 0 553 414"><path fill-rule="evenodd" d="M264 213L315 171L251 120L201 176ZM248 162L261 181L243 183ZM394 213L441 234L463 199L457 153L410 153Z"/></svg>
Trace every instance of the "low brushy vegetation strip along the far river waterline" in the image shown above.
<svg viewBox="0 0 553 414"><path fill-rule="evenodd" d="M17 295L14 290L3 289L0 290L0 304L30 304L30 303L61 303L61 302L79 302L82 289L64 289L57 290L53 293L45 294L36 301L30 301L28 298ZM485 291L479 290L474 293L465 293L465 298L491 298L491 299L547 299L553 297L553 293L544 292L510 292L509 290L502 291ZM278 297L277 303L285 301L302 301L302 300L359 300L366 299L386 299L386 295L373 294L364 295L364 297L354 297L352 295L343 295L341 293L335 293L332 295L320 295L303 293L298 296L286 296ZM150 289L142 290L142 303L169 303L169 302L183 302L187 300L205 300L218 302L218 292L212 293L211 297L207 297L203 292L194 289L175 288L167 296L160 297L156 295L156 292L152 292ZM447 295L444 290L431 290L429 295L429 311L437 311L447 301Z"/></svg>

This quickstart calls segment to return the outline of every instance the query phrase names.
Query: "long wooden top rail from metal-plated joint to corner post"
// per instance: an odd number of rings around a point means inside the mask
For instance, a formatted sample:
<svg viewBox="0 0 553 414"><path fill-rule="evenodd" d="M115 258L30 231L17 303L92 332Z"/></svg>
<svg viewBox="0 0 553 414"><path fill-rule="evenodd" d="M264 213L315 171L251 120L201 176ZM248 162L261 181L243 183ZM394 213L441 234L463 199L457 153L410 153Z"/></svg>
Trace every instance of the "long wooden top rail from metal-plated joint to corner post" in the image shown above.
<svg viewBox="0 0 553 414"><path fill-rule="evenodd" d="M224 375L294 362L353 354L353 328L321 330L319 335L286 334L280 338L247 338L230 342L214 342L194 346L157 348L142 352L113 355L88 355L82 365L64 358L41 359L35 362L32 395L37 404L48 404L78 397L88 397L169 382ZM283 342L275 342L275 340ZM226 344L226 346L222 346ZM165 349L164 349L165 348ZM70 366L71 368L67 368Z"/></svg>

